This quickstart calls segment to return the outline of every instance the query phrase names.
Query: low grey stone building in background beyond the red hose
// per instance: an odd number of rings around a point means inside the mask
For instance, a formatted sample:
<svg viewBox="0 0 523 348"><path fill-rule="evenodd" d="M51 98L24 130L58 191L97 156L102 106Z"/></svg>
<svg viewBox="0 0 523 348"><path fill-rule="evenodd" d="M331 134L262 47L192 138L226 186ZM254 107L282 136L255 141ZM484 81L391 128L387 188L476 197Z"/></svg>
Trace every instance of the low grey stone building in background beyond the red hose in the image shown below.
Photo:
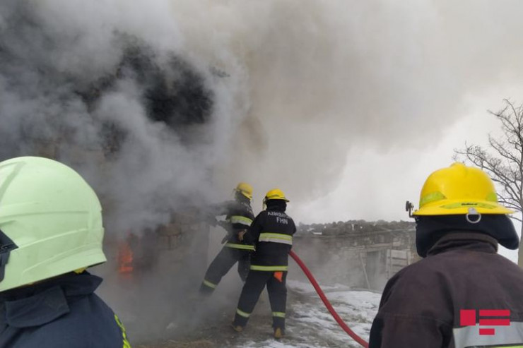
<svg viewBox="0 0 523 348"><path fill-rule="evenodd" d="M381 290L418 260L415 234L414 222L405 221L300 224L294 248L325 282Z"/></svg>

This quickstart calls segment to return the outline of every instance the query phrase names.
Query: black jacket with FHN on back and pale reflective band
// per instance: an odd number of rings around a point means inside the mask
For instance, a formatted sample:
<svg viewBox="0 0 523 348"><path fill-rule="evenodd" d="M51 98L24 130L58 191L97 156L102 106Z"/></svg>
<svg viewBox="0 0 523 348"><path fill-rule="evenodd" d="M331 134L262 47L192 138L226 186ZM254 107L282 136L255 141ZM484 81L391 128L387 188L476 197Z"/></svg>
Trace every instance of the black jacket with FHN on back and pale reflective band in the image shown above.
<svg viewBox="0 0 523 348"><path fill-rule="evenodd" d="M254 243L251 270L284 271L288 269L288 253L296 232L294 221L279 206L268 207L252 222L247 242Z"/></svg>

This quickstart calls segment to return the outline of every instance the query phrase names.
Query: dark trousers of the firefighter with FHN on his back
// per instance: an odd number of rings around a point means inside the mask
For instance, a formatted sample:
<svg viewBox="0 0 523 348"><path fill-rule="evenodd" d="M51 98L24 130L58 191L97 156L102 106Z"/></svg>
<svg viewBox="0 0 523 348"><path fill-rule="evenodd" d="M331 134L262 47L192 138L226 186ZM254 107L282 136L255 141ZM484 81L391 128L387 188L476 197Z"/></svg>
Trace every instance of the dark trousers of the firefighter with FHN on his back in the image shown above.
<svg viewBox="0 0 523 348"><path fill-rule="evenodd" d="M247 275L247 280L243 285L240 301L234 318L233 325L245 326L249 320L249 316L254 310L254 306L262 294L265 285L267 285L267 292L269 293L269 301L271 302L272 310L272 327L285 329L285 309L287 303L287 272L283 272L281 282L274 277L275 272L266 272L259 270L251 270Z"/></svg>

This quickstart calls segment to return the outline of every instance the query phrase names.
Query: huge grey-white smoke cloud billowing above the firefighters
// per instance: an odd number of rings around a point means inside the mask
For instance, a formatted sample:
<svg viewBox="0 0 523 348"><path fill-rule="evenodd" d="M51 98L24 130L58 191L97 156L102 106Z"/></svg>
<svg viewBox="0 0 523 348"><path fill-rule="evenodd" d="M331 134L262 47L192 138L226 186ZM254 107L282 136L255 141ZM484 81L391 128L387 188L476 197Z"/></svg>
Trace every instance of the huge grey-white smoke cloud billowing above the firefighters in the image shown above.
<svg viewBox="0 0 523 348"><path fill-rule="evenodd" d="M515 1L1 6L3 157L13 148L29 152L35 138L59 137L57 128L73 130L83 148L99 146L100 121L124 128L129 136L108 169L112 179L100 185L119 199L122 219L146 213L122 228L157 220L149 203L158 195L165 203L169 195L223 194L240 180L252 182L258 196L281 186L298 203L324 194L348 150L430 146L452 126L467 92L517 80L522 61L512 43L520 26ZM209 120L175 131L151 121L136 78L102 90L94 106L75 97L114 74L122 35L145 43L168 80L177 79L168 68L172 54L189 62L212 94ZM198 139L187 145L190 137ZM98 169L84 167L95 181Z"/></svg>

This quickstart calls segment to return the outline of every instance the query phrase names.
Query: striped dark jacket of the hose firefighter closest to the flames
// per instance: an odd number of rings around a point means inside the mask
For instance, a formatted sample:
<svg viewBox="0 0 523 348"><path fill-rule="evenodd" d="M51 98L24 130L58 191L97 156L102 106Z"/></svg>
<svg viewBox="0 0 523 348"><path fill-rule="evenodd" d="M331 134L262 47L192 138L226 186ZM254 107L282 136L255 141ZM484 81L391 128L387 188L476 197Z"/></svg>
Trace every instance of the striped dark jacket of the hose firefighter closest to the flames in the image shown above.
<svg viewBox="0 0 523 348"><path fill-rule="evenodd" d="M226 215L225 221L228 226L227 243L225 246L229 248L238 248L245 250L254 250L252 243L246 243L238 239L238 232L242 229L249 229L254 219L254 213L250 205L250 200L247 198L240 200L230 200L228 202L216 205L214 208L214 215Z"/></svg>

